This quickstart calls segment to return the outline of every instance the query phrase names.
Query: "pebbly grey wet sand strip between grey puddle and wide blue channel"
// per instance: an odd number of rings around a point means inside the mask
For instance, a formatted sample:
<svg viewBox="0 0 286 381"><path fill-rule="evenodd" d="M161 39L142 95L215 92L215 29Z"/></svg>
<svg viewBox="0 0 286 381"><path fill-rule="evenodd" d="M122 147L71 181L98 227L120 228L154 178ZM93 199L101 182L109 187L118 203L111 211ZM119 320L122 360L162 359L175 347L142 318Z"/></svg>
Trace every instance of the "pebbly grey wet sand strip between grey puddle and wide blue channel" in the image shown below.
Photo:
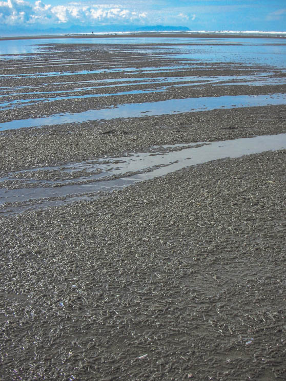
<svg viewBox="0 0 286 381"><path fill-rule="evenodd" d="M120 155L152 145L272 135L285 130L283 105L7 130L0 135L0 174Z"/></svg>

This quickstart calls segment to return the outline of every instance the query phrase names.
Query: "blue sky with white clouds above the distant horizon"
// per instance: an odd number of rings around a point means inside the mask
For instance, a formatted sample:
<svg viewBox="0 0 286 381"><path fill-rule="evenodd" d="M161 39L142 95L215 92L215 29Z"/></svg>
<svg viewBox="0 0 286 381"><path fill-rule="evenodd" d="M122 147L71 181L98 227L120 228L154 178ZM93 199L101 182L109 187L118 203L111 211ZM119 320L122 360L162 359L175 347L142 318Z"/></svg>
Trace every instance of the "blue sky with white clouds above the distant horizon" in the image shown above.
<svg viewBox="0 0 286 381"><path fill-rule="evenodd" d="M0 0L0 33L93 26L286 31L286 0Z"/></svg>

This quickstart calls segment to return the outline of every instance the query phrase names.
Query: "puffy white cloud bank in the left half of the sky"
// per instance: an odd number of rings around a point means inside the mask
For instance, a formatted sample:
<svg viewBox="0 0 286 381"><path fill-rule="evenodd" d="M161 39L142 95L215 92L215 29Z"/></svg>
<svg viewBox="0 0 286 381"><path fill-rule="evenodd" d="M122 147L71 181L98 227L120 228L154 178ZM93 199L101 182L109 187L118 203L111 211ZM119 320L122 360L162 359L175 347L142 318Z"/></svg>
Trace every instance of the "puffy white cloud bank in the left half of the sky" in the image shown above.
<svg viewBox="0 0 286 381"><path fill-rule="evenodd" d="M0 1L0 25L4 26L60 26L60 25L110 25L145 24L148 13L109 5L51 6L42 0L34 4L25 0Z"/></svg>

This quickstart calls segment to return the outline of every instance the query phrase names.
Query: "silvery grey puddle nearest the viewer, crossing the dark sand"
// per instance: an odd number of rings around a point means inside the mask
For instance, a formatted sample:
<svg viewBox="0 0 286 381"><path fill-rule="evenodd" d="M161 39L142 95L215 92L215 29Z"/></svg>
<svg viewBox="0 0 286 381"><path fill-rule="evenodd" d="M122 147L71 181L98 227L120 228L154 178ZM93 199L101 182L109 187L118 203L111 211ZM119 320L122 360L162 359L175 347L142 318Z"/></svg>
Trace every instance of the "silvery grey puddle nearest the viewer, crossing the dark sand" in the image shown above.
<svg viewBox="0 0 286 381"><path fill-rule="evenodd" d="M203 144L201 146L198 146ZM178 151L170 151L176 148ZM21 189L0 188L0 215L12 215L25 210L33 210L54 205L63 205L77 200L88 200L98 197L98 192L112 192L140 181L164 176L190 165L201 164L211 160L235 158L242 155L257 154L264 151L286 149L286 134L257 136L218 142L199 142L152 147L145 153L128 153L123 157L104 157L81 163L70 163L65 166L34 168L33 170L10 173L0 181L13 179L13 175L23 174L22 180L37 184L37 180L28 177L29 172L62 171L74 173L102 171L99 175L78 177L73 180L55 180L59 187L33 187ZM128 176L130 173L135 175ZM126 175L124 177L124 175ZM24 178L26 176L26 179ZM117 176L117 179L113 179ZM86 183L84 183L84 181ZM100 180L100 181L99 181ZM67 184L67 181L80 181L81 184ZM89 182L88 182L89 181ZM191 181L191 179L190 179ZM46 181L51 183L52 181ZM42 184L39 181L38 184ZM63 197L63 199L56 199ZM49 199L51 198L51 199ZM10 204L7 204L10 203ZM14 203L14 204L13 204Z"/></svg>

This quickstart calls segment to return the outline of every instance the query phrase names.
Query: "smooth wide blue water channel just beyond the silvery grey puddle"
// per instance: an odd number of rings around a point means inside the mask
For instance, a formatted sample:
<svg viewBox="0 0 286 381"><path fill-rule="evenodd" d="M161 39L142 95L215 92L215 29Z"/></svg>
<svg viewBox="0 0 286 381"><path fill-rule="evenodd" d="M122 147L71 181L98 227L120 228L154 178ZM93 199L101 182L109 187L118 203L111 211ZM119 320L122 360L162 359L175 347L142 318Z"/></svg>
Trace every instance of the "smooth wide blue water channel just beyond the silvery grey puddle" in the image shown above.
<svg viewBox="0 0 286 381"><path fill-rule="evenodd" d="M220 108L232 109L274 104L286 104L286 94L235 95L168 99L158 102L123 103L108 109L88 110L81 113L54 114L42 118L19 119L0 123L0 131L44 125L80 123L89 120L132 118L151 115L181 114Z"/></svg>

